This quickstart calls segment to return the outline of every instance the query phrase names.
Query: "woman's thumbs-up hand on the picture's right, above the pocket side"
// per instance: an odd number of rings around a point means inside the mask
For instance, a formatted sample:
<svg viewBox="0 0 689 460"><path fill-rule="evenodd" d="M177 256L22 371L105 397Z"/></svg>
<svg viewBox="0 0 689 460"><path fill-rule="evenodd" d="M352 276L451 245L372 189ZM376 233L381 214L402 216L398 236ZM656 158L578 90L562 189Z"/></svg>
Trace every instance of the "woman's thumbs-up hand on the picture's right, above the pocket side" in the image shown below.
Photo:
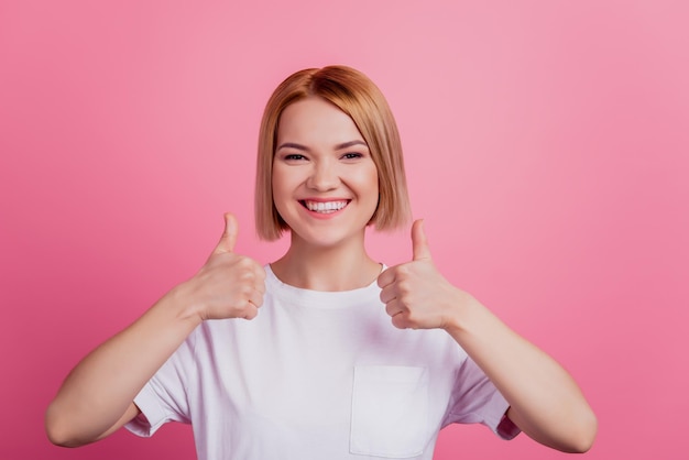
<svg viewBox="0 0 689 460"><path fill-rule="evenodd" d="M411 262L392 266L378 277L385 311L400 329L446 329L468 294L437 271L423 220L412 226L412 253Z"/></svg>

